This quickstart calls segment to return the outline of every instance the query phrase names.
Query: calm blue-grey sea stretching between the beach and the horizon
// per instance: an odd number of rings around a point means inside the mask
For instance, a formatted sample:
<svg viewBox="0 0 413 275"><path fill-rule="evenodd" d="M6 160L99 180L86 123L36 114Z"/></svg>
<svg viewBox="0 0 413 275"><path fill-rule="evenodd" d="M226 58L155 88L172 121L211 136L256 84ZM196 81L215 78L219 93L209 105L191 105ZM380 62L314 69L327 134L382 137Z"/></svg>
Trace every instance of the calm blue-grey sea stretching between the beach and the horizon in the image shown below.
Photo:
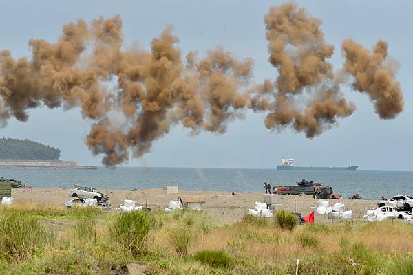
<svg viewBox="0 0 413 275"><path fill-rule="evenodd" d="M413 171L100 167L97 170L1 169L0 176L19 179L33 188L73 188L74 184L116 190L178 186L182 190L225 192L264 192L264 181L271 186L286 186L306 179L331 186L344 198L355 193L369 199L413 195Z"/></svg>

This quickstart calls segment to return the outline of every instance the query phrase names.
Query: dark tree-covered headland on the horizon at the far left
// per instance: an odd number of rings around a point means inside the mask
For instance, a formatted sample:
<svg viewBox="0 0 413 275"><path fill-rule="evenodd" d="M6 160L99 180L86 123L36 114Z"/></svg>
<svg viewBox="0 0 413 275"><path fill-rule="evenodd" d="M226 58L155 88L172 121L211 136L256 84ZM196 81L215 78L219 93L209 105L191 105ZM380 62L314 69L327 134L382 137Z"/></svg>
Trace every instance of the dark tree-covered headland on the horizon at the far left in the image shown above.
<svg viewBox="0 0 413 275"><path fill-rule="evenodd" d="M0 159L54 160L59 159L60 149L32 140L0 138Z"/></svg>

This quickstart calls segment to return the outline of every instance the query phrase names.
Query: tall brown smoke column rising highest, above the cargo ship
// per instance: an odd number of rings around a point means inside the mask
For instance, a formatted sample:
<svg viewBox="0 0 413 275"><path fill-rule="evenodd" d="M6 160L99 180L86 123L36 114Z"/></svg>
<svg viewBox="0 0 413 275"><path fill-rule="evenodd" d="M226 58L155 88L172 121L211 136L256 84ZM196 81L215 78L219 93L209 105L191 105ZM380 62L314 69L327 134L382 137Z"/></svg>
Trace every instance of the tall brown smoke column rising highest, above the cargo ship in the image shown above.
<svg viewBox="0 0 413 275"><path fill-rule="evenodd" d="M328 58L334 48L324 41L321 21L303 8L286 3L270 8L264 17L270 63L279 74L275 83L266 80L255 89L251 106L269 111L265 126L280 129L292 125L314 137L337 121L351 115L354 105L339 93L339 85ZM312 98L304 107L295 98L308 91Z"/></svg>

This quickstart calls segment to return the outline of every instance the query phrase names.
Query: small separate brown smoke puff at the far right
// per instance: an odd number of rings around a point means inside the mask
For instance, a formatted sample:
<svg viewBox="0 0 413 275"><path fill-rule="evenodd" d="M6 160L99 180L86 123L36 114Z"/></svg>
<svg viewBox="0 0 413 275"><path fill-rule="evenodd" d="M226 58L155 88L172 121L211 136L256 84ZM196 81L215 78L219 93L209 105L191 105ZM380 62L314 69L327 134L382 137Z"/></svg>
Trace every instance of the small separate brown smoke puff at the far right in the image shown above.
<svg viewBox="0 0 413 275"><path fill-rule="evenodd" d="M394 80L394 72L386 65L388 43L377 41L372 52L351 39L341 45L346 63L344 69L354 76L352 88L365 92L374 102L374 108L380 118L395 118L403 111L403 94L398 82Z"/></svg>

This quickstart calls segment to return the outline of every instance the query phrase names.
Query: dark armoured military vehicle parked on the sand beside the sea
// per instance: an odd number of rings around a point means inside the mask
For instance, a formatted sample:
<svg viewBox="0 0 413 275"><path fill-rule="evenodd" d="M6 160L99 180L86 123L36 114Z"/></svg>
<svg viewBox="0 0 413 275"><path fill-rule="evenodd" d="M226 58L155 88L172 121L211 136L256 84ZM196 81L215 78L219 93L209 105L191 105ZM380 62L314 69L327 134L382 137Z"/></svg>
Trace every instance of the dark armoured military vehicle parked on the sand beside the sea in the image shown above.
<svg viewBox="0 0 413 275"><path fill-rule="evenodd" d="M317 199L328 199L332 195L330 186L323 186L319 182L306 181L297 182L296 186L275 186L273 192L279 195L313 195Z"/></svg>

